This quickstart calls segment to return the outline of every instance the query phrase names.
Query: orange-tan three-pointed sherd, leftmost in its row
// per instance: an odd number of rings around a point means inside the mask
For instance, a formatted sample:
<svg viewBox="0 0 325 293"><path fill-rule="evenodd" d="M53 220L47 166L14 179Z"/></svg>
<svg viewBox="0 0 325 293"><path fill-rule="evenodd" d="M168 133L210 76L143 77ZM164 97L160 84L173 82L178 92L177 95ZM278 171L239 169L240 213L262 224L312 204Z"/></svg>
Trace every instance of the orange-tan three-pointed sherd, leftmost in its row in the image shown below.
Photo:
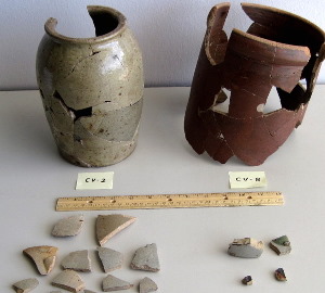
<svg viewBox="0 0 325 293"><path fill-rule="evenodd" d="M57 247L54 246L34 246L23 251L30 257L40 275L48 275L54 267Z"/></svg>

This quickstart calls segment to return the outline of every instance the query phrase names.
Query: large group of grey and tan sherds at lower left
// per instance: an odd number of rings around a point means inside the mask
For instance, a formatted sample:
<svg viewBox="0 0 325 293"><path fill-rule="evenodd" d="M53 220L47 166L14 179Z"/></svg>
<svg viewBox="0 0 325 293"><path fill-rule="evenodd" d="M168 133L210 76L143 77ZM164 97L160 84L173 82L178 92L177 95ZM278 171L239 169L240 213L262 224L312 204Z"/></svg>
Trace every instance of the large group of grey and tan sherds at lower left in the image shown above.
<svg viewBox="0 0 325 293"><path fill-rule="evenodd" d="M123 256L120 252L102 246L116 233L134 222L135 219L135 217L119 214L98 216L95 230L98 241L101 245L98 247L98 253L105 272L110 272L121 268ZM64 218L54 226L52 235L77 235L81 231L82 225L82 215ZM55 265L57 251L57 247L43 245L28 247L24 250L24 254L34 260L40 275L49 275ZM92 291L84 290L86 285L80 276L76 272L91 271L91 260L87 250L72 252L62 260L61 265L64 270L52 280L52 285L76 293L94 293ZM132 269L145 271L159 271L160 265L157 254L157 245L152 243L144 247L138 249L134 253L130 267ZM14 283L13 288L18 293L26 293L34 290L38 284L39 282L37 279L30 278ZM131 286L133 286L133 284L116 278L113 275L106 276L102 282L102 289L104 292L127 290ZM156 291L157 289L157 284L147 277L140 281L140 293L150 293ZM52 291L52 293L58 292L60 291Z"/></svg>

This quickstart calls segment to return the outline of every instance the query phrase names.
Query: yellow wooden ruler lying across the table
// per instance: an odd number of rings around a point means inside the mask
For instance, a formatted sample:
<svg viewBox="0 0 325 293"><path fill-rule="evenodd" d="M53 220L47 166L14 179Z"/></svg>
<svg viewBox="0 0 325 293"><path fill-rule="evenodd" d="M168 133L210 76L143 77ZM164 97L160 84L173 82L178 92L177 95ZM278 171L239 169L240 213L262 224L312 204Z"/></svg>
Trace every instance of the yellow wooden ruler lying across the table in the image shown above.
<svg viewBox="0 0 325 293"><path fill-rule="evenodd" d="M56 211L283 205L282 192L227 192L60 198Z"/></svg>

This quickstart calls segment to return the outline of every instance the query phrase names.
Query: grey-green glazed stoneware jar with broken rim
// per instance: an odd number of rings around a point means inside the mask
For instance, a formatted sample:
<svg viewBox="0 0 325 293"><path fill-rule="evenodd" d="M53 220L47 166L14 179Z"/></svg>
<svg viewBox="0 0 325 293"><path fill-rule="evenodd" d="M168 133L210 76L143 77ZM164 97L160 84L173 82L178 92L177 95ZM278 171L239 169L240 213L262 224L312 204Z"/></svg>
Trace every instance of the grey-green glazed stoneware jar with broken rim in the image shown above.
<svg viewBox="0 0 325 293"><path fill-rule="evenodd" d="M69 38L46 23L37 80L61 155L83 167L116 164L135 148L143 102L138 42L118 11L88 7L96 37Z"/></svg>

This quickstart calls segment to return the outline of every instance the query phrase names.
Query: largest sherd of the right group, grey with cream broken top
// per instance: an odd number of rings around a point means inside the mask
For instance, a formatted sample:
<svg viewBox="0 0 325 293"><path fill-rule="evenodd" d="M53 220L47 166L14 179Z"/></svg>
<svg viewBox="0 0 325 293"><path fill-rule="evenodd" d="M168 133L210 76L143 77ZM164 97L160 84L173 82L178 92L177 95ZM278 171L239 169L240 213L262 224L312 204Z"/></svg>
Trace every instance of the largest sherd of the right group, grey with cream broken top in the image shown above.
<svg viewBox="0 0 325 293"><path fill-rule="evenodd" d="M232 256L244 258L257 258L263 253L264 244L252 238L235 239L230 244L227 253Z"/></svg>

